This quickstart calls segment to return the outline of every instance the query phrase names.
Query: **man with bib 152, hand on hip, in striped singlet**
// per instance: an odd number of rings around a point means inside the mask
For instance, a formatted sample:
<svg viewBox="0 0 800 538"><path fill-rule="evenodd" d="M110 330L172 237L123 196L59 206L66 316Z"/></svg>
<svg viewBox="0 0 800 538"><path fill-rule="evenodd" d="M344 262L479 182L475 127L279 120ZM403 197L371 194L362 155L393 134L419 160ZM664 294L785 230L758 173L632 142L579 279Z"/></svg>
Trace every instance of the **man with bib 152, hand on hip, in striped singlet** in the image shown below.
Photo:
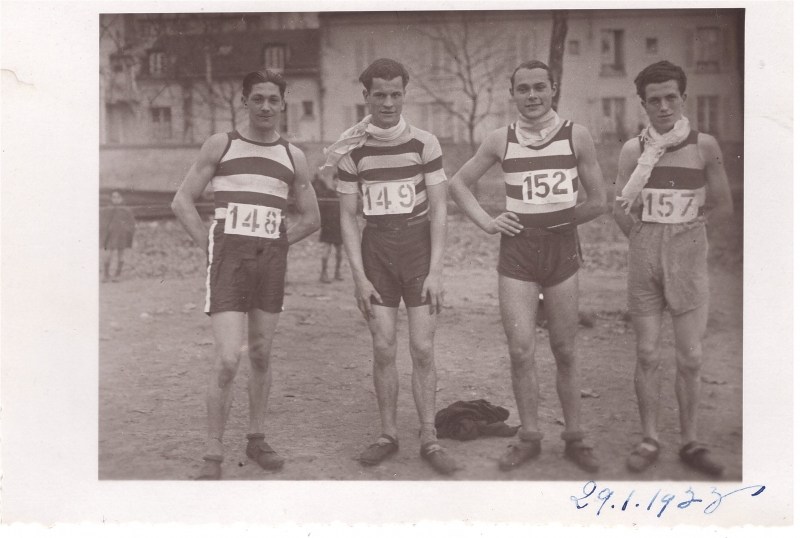
<svg viewBox="0 0 800 538"><path fill-rule="evenodd" d="M467 216L490 234L501 233L500 315L511 356L511 381L522 428L519 442L500 458L513 469L541 452L536 378L536 309L544 295L550 347L556 359L556 389L564 411L565 456L588 471L599 463L580 426L576 227L605 210L605 187L589 131L561 120L552 109L558 90L547 65L526 62L511 75L519 120L492 132L450 183L450 194ZM506 211L496 218L469 189L495 163L506 183ZM578 203L578 184L587 198Z"/></svg>

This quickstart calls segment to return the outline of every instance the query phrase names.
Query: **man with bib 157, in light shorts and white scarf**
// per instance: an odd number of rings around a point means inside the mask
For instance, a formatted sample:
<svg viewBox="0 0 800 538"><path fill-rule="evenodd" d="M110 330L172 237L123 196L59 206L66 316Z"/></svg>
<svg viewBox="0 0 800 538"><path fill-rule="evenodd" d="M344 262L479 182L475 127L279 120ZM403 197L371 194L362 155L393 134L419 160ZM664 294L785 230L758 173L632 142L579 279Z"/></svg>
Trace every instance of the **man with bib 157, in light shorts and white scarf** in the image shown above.
<svg viewBox="0 0 800 538"><path fill-rule="evenodd" d="M644 434L627 466L643 471L660 452L658 340L667 309L675 329L680 458L720 475L721 463L697 441L697 410L709 299L706 222L725 225L733 208L730 187L717 141L691 130L683 116L683 69L658 62L639 73L635 84L650 125L622 147L614 208L630 239L628 310L636 332L634 385Z"/></svg>

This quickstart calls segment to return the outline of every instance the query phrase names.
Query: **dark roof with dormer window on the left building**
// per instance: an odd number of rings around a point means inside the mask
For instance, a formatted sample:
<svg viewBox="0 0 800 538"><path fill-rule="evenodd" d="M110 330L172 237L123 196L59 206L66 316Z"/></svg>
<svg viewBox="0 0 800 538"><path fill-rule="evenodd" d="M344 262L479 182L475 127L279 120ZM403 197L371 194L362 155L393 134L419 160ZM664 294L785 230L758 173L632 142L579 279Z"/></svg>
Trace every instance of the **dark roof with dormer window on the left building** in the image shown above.
<svg viewBox="0 0 800 538"><path fill-rule="evenodd" d="M151 51L163 51L170 59L166 75L204 77L206 57L203 51L214 51L212 71L215 78L239 77L264 69L264 48L270 44L287 47L287 75L316 74L320 66L320 30L258 30L218 34L177 34L163 36ZM147 65L147 64L145 64ZM144 69L143 76L150 76Z"/></svg>

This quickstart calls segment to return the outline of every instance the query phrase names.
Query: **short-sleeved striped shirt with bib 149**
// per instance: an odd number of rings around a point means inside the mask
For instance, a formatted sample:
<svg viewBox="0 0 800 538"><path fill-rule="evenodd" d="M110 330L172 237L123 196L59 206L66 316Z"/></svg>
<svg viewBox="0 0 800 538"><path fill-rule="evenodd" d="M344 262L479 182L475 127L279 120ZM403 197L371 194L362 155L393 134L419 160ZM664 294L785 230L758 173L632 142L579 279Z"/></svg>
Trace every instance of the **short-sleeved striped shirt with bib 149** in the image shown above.
<svg viewBox="0 0 800 538"><path fill-rule="evenodd" d="M423 219L428 214L426 186L447 180L439 141L410 125L391 142L369 138L342 157L338 169L337 190L362 194L367 222Z"/></svg>

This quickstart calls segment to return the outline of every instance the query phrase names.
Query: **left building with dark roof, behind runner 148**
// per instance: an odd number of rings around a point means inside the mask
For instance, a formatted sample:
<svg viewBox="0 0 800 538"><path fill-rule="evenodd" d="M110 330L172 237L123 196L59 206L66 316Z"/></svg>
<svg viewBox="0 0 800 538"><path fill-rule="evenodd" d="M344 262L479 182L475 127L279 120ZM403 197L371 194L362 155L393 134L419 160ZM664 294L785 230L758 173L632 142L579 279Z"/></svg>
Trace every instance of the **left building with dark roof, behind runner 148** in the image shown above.
<svg viewBox="0 0 800 538"><path fill-rule="evenodd" d="M320 140L316 14L101 16L100 140L199 144L244 119L241 82L259 69L288 82L282 133Z"/></svg>

